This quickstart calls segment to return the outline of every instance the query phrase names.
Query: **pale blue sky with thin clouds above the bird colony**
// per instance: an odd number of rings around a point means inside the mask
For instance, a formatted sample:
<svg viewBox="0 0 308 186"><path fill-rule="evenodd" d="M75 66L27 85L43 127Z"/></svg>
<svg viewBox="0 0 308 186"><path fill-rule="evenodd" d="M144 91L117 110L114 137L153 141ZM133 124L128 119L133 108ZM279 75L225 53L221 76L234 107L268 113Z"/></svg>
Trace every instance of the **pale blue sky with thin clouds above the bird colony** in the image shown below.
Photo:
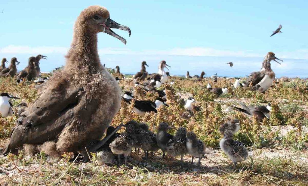
<svg viewBox="0 0 308 186"><path fill-rule="evenodd" d="M99 3L99 4L98 4ZM160 60L170 73L191 75L205 71L221 76L244 76L260 69L263 57L273 51L283 59L272 63L276 76L307 77L307 1L0 1L0 57L17 57L21 70L32 55L43 54L42 71L65 64L80 11L90 5L105 6L111 19L129 26L124 45L99 33L99 55L107 67L119 65L135 73L146 60L156 72ZM3 14L1 13L2 10ZM282 34L273 37L282 24ZM232 61L230 68L227 62Z"/></svg>

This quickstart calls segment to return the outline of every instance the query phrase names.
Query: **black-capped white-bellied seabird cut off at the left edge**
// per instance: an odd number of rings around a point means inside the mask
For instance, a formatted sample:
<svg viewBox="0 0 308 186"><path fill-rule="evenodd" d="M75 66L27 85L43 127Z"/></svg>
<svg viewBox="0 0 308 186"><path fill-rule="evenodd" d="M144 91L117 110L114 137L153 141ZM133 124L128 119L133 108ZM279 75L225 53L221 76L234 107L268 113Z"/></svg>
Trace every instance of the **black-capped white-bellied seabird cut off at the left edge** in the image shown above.
<svg viewBox="0 0 308 186"><path fill-rule="evenodd" d="M13 105L10 102L10 99L19 99L18 97L14 97L8 93L1 93L0 94L0 114L2 117L12 116L13 112Z"/></svg>

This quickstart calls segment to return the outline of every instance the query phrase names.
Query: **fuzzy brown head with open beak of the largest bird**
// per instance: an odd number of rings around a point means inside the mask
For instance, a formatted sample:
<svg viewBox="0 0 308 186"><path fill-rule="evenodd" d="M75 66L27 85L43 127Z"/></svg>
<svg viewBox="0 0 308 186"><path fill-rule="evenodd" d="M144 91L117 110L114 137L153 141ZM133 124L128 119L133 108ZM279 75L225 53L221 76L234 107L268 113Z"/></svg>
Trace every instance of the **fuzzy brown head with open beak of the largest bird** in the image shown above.
<svg viewBox="0 0 308 186"><path fill-rule="evenodd" d="M122 26L110 19L109 11L103 6L89 6L83 10L75 23L75 29L78 30L79 27L83 27L91 33L105 32L120 39L124 44L126 44L126 40L113 32L111 28L126 30L129 36L131 35L131 30L127 26Z"/></svg>

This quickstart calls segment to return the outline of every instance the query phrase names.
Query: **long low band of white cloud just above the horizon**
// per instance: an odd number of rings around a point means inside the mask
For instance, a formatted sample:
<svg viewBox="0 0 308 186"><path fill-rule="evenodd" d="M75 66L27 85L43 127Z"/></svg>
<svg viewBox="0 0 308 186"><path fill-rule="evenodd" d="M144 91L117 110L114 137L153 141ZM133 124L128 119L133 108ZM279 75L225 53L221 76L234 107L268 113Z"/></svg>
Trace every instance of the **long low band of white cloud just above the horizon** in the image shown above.
<svg viewBox="0 0 308 186"><path fill-rule="evenodd" d="M9 45L0 48L0 54L66 54L68 48L53 46L15 46ZM217 50L213 48L191 47L191 48L173 48L169 50L143 50L132 51L126 48L101 48L98 50L100 55L180 55L180 56L202 56L202 57L264 57L265 54L253 53L252 51L229 51ZM277 52L279 53L279 52ZM277 55L278 56L278 55ZM290 52L280 52L279 58L282 59L308 59L308 49L301 49Z"/></svg>

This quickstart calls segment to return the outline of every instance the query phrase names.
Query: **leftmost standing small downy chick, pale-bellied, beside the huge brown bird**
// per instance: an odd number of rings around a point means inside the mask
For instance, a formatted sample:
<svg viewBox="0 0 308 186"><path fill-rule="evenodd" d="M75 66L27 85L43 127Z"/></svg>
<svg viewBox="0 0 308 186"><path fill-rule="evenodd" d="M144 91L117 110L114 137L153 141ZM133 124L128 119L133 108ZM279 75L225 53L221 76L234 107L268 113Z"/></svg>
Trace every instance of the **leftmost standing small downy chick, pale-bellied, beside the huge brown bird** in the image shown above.
<svg viewBox="0 0 308 186"><path fill-rule="evenodd" d="M120 163L120 155L124 155L125 164L127 164L127 157L131 154L133 146L136 144L136 129L138 123L136 121L129 121L123 127L126 127L124 134L120 134L115 138L109 147L114 154L118 155Z"/></svg>

